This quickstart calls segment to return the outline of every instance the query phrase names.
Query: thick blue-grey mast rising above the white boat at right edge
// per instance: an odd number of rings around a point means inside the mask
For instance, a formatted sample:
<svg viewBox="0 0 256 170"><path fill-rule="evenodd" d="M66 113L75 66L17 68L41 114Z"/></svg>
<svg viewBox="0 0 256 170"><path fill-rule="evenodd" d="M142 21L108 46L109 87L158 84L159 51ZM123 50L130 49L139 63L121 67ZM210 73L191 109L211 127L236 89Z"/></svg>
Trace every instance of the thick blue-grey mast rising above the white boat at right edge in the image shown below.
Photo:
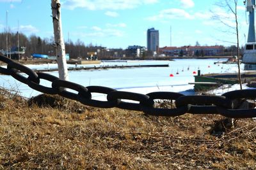
<svg viewBox="0 0 256 170"><path fill-rule="evenodd" d="M254 25L254 11L255 11L255 0L247 0L246 11L249 12L249 31L248 31L248 43L255 42L255 25Z"/></svg>

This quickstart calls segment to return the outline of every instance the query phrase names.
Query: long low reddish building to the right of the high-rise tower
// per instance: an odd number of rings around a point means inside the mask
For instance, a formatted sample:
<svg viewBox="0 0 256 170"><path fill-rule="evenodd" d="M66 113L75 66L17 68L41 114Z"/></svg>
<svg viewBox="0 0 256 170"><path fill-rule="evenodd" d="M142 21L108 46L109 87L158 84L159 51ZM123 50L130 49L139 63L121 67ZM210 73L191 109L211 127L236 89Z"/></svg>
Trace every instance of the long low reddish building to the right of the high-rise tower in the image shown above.
<svg viewBox="0 0 256 170"><path fill-rule="evenodd" d="M159 53L167 56L216 56L222 55L224 46L164 46L159 48Z"/></svg>

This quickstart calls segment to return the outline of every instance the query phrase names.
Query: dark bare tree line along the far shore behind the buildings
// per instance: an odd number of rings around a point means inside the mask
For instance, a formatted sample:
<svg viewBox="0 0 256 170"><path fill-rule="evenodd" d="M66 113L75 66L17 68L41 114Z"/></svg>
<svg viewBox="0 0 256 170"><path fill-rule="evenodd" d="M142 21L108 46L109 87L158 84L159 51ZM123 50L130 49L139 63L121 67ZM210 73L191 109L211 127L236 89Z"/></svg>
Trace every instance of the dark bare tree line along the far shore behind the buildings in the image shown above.
<svg viewBox="0 0 256 170"><path fill-rule="evenodd" d="M0 50L6 50L6 32L0 33ZM200 45L196 42L196 45ZM18 33L10 32L8 33L8 50L13 46L18 46ZM51 38L40 38L39 36L31 35L26 36L25 34L19 33L19 46L26 47L26 57L30 57L33 53L40 53L50 56L56 55L56 48L54 47L54 37ZM132 53L129 50L123 50L122 48L109 49L107 50L102 46L95 46L89 44L84 45L83 41L77 39L74 43L71 40L65 42L66 53L69 53L70 59L85 59L88 57L88 52L97 52L98 59L116 59L123 57L132 57ZM243 52L243 48L240 49ZM224 48L222 55L236 55L237 47L235 45L226 46ZM183 55L183 52L179 53L180 56ZM204 56L204 52L198 51L195 53L198 56ZM142 59L147 59L152 57L152 53L145 51L141 54Z"/></svg>

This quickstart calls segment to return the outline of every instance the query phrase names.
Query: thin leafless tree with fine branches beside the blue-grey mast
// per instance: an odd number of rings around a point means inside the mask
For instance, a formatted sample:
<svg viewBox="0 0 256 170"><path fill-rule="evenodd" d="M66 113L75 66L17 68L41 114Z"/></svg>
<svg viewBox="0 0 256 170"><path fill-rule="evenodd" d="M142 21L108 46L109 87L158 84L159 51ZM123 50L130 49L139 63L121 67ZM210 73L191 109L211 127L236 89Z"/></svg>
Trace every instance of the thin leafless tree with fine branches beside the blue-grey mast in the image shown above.
<svg viewBox="0 0 256 170"><path fill-rule="evenodd" d="M220 21L223 25L227 26L228 29L232 30L236 34L236 45L237 45L237 66L238 66L238 81L240 89L242 89L242 80L241 80L241 69L240 69L240 52L239 52L239 28L238 28L238 18L237 18L237 0L224 0L216 3L221 9L226 10L227 14L230 15L221 15L218 13L213 13L212 19ZM230 21L230 22L227 22Z"/></svg>

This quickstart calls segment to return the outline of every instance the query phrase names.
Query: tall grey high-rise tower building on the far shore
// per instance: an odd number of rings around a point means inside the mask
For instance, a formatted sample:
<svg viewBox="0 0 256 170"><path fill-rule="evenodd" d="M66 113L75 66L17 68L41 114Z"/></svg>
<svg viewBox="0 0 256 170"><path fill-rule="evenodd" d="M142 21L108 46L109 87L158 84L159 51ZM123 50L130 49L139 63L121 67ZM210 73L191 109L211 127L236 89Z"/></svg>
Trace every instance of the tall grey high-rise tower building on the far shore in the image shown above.
<svg viewBox="0 0 256 170"><path fill-rule="evenodd" d="M150 28L147 31L147 48L152 52L157 52L159 48L159 31L155 28Z"/></svg>

